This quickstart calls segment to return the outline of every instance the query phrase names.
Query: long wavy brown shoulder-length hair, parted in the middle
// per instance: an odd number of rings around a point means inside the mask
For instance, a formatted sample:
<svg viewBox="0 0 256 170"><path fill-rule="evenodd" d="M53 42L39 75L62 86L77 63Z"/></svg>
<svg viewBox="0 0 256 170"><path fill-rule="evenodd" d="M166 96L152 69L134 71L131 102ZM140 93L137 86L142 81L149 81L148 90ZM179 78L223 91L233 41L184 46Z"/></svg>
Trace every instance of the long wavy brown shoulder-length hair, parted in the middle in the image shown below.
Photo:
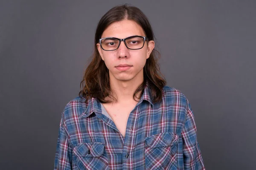
<svg viewBox="0 0 256 170"><path fill-rule="evenodd" d="M137 22L143 28L148 40L154 40L154 34L148 18L139 8L128 6L127 4L111 8L101 18L96 28L94 52L91 56L91 62L84 73L83 80L80 83L80 88L82 88L79 92L80 98L88 100L93 97L99 99L102 103L111 102L105 100L105 97L107 96L111 97L111 99L115 99L110 88L108 68L100 57L96 44L99 42L103 31L105 31L111 23L122 20L133 20ZM160 57L160 53L153 49L149 58L146 60L146 64L143 68L144 80L134 92L134 99L138 93L144 90L146 84L148 84L150 89L151 100L153 102L158 102L162 99L162 88L165 86L166 80L160 73L160 68L157 64L157 55ZM140 93L139 98L141 98L141 96L142 93Z"/></svg>

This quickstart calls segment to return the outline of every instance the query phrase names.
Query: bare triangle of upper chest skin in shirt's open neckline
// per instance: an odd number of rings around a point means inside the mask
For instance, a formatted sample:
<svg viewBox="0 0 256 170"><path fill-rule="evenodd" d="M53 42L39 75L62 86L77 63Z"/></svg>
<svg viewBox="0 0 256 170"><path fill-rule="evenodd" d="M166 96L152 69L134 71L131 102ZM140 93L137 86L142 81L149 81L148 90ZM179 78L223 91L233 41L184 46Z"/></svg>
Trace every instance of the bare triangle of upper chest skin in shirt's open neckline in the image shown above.
<svg viewBox="0 0 256 170"><path fill-rule="evenodd" d="M127 103L125 105L112 105L112 103L102 103L102 105L104 106L108 114L111 116L119 132L122 134L123 137L125 137L128 117L131 111L137 105L137 102L129 104Z"/></svg>

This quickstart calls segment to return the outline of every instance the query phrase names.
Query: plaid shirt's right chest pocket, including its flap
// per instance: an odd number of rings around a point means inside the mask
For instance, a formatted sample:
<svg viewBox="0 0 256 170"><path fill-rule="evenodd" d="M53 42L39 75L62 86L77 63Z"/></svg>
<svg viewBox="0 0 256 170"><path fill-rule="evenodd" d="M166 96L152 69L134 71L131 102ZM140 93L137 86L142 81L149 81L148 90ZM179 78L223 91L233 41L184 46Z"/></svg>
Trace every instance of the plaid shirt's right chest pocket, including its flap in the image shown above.
<svg viewBox="0 0 256 170"><path fill-rule="evenodd" d="M178 136L171 132L148 136L145 139L146 170L176 170L178 140Z"/></svg>

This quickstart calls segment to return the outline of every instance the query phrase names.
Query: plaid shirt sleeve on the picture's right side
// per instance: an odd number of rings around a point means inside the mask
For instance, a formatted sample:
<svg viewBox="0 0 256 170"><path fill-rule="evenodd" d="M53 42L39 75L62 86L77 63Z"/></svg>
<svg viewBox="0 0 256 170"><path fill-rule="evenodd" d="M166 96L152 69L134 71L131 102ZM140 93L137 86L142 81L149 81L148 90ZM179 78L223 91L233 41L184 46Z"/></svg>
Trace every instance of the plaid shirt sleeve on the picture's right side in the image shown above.
<svg viewBox="0 0 256 170"><path fill-rule="evenodd" d="M183 140L183 160L185 170L205 170L201 150L197 140L197 129L191 105L187 100L186 121L181 132Z"/></svg>

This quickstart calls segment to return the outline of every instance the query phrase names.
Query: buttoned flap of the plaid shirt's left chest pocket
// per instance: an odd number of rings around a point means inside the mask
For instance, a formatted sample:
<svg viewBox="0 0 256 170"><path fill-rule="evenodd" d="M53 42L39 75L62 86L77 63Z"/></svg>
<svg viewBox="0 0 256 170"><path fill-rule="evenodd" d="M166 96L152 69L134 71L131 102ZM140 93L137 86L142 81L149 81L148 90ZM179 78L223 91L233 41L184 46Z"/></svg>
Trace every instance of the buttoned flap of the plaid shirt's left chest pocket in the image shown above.
<svg viewBox="0 0 256 170"><path fill-rule="evenodd" d="M84 157L99 157L104 152L105 144L101 142L83 143L74 147L74 153Z"/></svg>

